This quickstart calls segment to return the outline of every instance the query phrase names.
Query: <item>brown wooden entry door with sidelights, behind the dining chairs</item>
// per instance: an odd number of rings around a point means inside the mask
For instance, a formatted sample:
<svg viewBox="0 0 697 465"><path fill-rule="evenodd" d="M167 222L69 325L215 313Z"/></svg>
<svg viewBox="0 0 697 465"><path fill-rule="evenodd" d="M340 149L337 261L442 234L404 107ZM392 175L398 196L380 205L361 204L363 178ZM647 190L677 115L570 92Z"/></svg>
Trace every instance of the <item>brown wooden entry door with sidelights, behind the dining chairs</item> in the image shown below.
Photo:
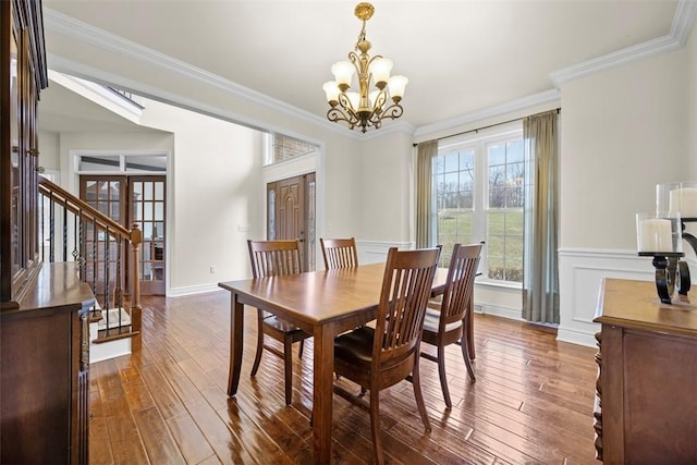
<svg viewBox="0 0 697 465"><path fill-rule="evenodd" d="M298 238L304 271L314 271L316 262L316 186L315 173L267 184L267 236Z"/></svg>

